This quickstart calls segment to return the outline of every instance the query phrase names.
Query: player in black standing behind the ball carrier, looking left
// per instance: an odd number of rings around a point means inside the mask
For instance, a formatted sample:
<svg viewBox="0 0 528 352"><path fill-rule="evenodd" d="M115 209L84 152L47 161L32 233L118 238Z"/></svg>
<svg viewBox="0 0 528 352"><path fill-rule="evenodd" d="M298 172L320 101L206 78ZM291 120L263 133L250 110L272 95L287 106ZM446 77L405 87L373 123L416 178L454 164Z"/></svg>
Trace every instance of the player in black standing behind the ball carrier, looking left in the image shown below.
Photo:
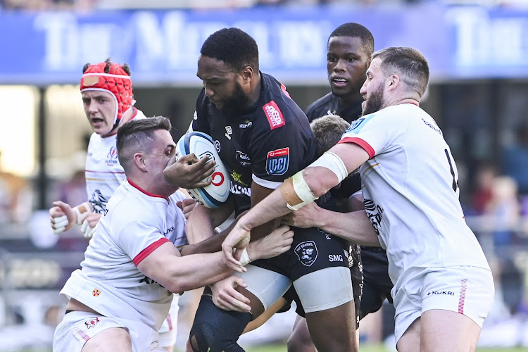
<svg viewBox="0 0 528 352"><path fill-rule="evenodd" d="M308 106L306 116L310 122L329 114L339 115L349 123L360 117L363 96L359 91L365 82L365 73L370 65L370 56L373 51L374 37L372 33L358 23L344 23L330 34L327 46L327 70L331 92ZM350 180L351 178L353 179ZM348 181L346 187L341 187L334 193L354 194L356 191L360 191L359 174L351 175L348 179L346 180ZM356 203L358 200L363 200L363 198L356 196ZM358 206L362 206L362 204L358 204ZM313 205L313 207L316 206ZM287 223L320 226L316 222L308 221L318 218L315 213L316 211L311 207L301 208L289 215ZM353 263L351 275L354 298L358 298L358 296L361 298L359 309L356 301L356 322L358 322L365 315L379 310L385 298L392 301L390 292L393 284L388 273L389 263L386 253L381 247L361 246L359 251L358 245L352 244L350 252L351 263ZM363 268L363 292L358 287L358 283L361 282L361 268ZM294 292L290 290L285 298L291 300L291 298L295 298L294 296ZM302 313L299 310L297 312ZM302 315L298 315L296 318L294 331L288 340L288 351L315 351Z"/></svg>

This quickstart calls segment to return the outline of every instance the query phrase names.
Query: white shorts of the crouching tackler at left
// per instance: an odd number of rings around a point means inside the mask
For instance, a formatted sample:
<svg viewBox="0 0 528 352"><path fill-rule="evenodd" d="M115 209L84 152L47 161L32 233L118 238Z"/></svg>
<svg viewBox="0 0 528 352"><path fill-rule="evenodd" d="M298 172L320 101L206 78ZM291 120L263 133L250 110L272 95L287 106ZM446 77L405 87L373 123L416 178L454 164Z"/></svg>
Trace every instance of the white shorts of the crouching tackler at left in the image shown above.
<svg viewBox="0 0 528 352"><path fill-rule="evenodd" d="M86 342L111 327L124 327L132 339L134 352L166 352L158 344L158 332L134 320L73 311L64 315L54 334L54 352L80 352Z"/></svg>

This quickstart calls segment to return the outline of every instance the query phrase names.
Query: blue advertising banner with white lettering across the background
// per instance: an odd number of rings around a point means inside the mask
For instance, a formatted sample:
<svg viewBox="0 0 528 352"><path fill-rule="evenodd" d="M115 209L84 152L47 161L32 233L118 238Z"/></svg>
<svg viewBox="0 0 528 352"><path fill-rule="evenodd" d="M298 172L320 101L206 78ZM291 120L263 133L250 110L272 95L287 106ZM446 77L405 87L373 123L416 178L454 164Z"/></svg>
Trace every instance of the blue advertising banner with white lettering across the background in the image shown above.
<svg viewBox="0 0 528 352"><path fill-rule="evenodd" d="M240 27L260 68L289 84L326 82L335 27L358 22L375 49L413 46L432 80L528 77L528 11L439 5L387 8L251 8L230 11L0 13L0 84L77 84L84 63L129 63L136 85L194 86L201 44Z"/></svg>

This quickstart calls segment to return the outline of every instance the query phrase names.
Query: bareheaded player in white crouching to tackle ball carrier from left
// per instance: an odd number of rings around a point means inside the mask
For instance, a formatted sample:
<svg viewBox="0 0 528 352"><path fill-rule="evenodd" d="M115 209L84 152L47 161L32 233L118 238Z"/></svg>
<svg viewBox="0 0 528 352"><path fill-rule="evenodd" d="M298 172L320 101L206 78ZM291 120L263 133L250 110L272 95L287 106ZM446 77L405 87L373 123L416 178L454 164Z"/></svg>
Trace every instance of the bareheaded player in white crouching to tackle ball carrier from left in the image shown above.
<svg viewBox="0 0 528 352"><path fill-rule="evenodd" d="M54 351L165 351L158 330L172 293L212 284L232 272L221 251L199 253L200 244L187 245L185 216L177 206L186 196L163 176L175 153L170 128L163 117L120 127L116 145L126 180L108 201L81 269L61 290L68 304L56 328ZM219 235L218 249L223 238ZM289 227L279 227L255 241L247 257L284 253L292 238Z"/></svg>

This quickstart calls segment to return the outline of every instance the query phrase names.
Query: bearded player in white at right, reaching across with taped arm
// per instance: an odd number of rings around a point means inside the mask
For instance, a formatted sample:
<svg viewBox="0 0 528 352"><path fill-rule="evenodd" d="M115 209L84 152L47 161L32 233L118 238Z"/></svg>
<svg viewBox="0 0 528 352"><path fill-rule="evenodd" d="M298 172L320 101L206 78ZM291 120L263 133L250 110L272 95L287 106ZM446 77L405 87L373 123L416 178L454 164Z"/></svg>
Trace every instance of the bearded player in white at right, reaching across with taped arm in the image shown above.
<svg viewBox="0 0 528 352"><path fill-rule="evenodd" d="M363 116L317 161L246 213L222 250L235 270L250 230L325 194L360 167L366 211L342 215L332 233L382 246L394 283L398 351L474 351L494 282L464 220L458 173L443 134L418 104L429 81L419 51L372 55ZM346 231L343 231L343 230Z"/></svg>

